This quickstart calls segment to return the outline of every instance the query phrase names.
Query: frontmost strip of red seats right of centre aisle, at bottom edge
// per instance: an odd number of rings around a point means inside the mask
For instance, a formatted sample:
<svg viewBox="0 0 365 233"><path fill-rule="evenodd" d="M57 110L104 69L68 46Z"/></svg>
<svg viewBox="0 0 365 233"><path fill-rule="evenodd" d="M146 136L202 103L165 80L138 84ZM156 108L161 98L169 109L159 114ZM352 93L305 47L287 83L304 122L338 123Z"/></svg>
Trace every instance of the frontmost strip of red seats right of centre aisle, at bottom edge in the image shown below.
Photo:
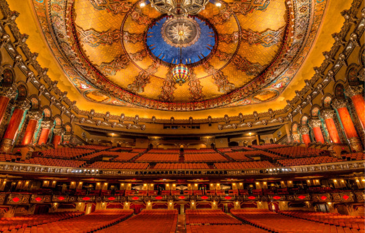
<svg viewBox="0 0 365 233"><path fill-rule="evenodd" d="M186 225L186 233L267 233L248 224Z"/></svg>

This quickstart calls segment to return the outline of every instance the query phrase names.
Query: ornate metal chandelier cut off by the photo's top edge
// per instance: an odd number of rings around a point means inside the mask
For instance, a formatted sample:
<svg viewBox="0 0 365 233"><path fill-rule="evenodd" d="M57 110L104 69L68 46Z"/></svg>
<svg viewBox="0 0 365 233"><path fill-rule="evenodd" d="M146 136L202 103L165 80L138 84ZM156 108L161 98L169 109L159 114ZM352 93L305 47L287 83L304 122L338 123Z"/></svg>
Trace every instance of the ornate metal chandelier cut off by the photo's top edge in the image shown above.
<svg viewBox="0 0 365 233"><path fill-rule="evenodd" d="M209 0L149 0L151 6L162 14L182 17L196 15L204 10Z"/></svg>

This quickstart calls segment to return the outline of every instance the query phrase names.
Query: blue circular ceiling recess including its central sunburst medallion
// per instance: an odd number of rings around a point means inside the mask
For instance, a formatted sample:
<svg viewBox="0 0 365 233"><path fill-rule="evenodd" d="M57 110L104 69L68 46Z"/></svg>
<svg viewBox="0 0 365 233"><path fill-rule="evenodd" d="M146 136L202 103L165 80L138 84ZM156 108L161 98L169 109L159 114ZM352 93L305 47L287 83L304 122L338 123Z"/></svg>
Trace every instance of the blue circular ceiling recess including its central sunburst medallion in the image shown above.
<svg viewBox="0 0 365 233"><path fill-rule="evenodd" d="M177 38L181 30L185 30L183 40ZM199 62L208 57L216 45L215 31L198 17L165 16L156 21L146 33L146 45L150 54L171 64ZM182 62L180 62L180 43L183 44Z"/></svg>

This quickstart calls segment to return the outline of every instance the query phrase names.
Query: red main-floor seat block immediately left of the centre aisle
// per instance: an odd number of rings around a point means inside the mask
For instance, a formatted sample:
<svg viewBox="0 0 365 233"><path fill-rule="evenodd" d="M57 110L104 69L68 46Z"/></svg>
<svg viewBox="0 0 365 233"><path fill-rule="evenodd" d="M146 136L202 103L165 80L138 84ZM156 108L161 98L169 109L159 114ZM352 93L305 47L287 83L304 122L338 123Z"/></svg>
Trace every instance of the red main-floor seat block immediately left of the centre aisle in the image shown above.
<svg viewBox="0 0 365 233"><path fill-rule="evenodd" d="M142 210L141 213L106 228L101 233L175 233L178 223L177 210Z"/></svg>

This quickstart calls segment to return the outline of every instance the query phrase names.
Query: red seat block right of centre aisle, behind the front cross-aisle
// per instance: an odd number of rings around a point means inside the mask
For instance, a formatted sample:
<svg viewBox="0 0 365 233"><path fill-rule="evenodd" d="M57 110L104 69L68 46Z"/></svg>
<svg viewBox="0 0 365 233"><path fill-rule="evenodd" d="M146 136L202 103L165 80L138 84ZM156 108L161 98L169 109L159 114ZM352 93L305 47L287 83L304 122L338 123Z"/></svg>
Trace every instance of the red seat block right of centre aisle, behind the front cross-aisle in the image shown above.
<svg viewBox="0 0 365 233"><path fill-rule="evenodd" d="M221 209L186 209L186 224L242 224Z"/></svg>

